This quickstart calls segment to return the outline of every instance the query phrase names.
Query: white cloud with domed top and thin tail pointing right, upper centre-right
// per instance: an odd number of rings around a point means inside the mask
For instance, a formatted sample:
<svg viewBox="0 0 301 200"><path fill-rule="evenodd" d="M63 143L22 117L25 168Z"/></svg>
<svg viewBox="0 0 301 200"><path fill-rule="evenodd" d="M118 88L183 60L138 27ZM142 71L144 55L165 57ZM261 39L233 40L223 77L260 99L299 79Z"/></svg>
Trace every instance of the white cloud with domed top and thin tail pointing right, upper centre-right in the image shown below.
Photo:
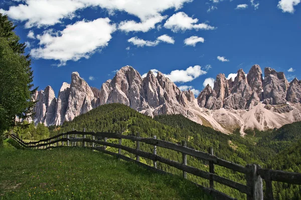
<svg viewBox="0 0 301 200"><path fill-rule="evenodd" d="M212 30L215 27L208 25L206 23L198 23L199 19L192 18L188 16L185 12L178 12L173 14L164 24L165 28L172 29L173 32L178 32L179 30L185 31L187 29L204 29Z"/></svg>

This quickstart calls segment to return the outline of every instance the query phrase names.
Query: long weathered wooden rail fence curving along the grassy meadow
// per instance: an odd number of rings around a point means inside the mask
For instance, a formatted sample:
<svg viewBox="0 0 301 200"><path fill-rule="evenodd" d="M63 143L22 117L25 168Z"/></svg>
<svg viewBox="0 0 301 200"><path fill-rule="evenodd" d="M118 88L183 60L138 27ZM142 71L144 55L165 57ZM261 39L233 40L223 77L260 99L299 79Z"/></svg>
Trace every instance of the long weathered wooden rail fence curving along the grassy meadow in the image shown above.
<svg viewBox="0 0 301 200"><path fill-rule="evenodd" d="M81 137L78 137L80 135ZM87 135L90 135L89 136L90 138L87 138L86 137ZM115 133L108 133L108 132L96 132L96 133L85 132L84 129L84 132L73 130L66 133L55 135L47 139L42 139L39 141L32 141L32 142L24 142L15 134L11 134L11 136L21 146L25 148L36 148L36 149L56 148L64 145L75 146L77 142L79 142L78 143L79 145L77 146L90 147L92 149L117 156L127 161L134 161L139 165L142 165L143 167L146 167L148 169L166 173L165 171L157 168L157 162L159 161L182 170L184 178L187 178L187 173L191 173L193 175L208 179L210 181L210 188L203 187L201 185L198 186L200 186L204 191L210 193L212 196L216 197L216 199L234 199L234 198L220 191L215 190L214 182L227 185L229 187L237 189L242 193L245 193L247 196L247 200L263 199L262 179L264 179L266 185L266 191L265 191L266 199L273 199L273 190L272 190L271 181L279 181L279 182L285 182L290 184L301 184L301 173L265 169L265 168L261 168L257 164L248 164L244 167L234 162L230 162L215 156L212 147L208 149L208 153L207 153L207 152L202 152L187 147L186 141L183 141L182 145L179 145L169 141L157 139L156 136L154 136L154 138L139 137L139 133L137 133L137 136L132 136L132 135L122 135L122 134L115 134ZM118 143L107 142L108 138L119 139L119 142ZM131 148L122 145L121 144L122 139L129 139L131 141L135 141L136 148ZM153 153L140 150L140 142L153 145L154 146ZM89 146L87 146L87 143L89 144ZM96 146L96 144L102 146ZM107 146L118 148L118 153L106 150ZM180 163L178 161L170 160L160 155L157 155L157 146L176 150L182 153L183 162ZM134 160L130 157L122 155L121 149L136 155L136 159ZM196 158L200 158L203 160L207 160L209 162L209 172L187 165L187 155L194 156ZM153 166L149 166L140 162L140 156L153 160ZM244 173L247 184L244 185L215 174L214 165L223 166L232 169L233 171Z"/></svg>

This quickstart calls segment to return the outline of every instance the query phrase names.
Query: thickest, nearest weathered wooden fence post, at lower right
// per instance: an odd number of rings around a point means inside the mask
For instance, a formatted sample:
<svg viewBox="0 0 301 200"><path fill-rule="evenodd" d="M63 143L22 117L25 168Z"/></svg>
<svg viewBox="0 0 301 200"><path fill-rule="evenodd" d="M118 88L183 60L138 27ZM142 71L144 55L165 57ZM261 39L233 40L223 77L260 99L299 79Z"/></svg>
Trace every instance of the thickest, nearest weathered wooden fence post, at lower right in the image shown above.
<svg viewBox="0 0 301 200"><path fill-rule="evenodd" d="M247 200L263 200L262 178L257 174L258 164L247 164L247 168L251 169L249 174L246 174L247 186L252 188L251 196L247 195Z"/></svg>

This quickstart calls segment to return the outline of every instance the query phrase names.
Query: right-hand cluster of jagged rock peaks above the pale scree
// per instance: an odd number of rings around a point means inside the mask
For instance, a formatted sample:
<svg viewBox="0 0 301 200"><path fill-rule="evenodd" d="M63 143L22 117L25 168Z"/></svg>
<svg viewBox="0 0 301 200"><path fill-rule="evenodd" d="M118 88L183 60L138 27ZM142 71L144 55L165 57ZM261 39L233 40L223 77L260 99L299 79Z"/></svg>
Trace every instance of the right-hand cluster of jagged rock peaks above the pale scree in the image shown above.
<svg viewBox="0 0 301 200"><path fill-rule="evenodd" d="M255 64L247 76L239 69L234 81L225 81L223 74L217 75L213 91L210 94L208 87L205 87L198 97L198 104L208 109L249 109L260 101L280 105L300 100L300 81L294 79L288 83L283 72L269 67L264 69L263 79L260 66Z"/></svg>

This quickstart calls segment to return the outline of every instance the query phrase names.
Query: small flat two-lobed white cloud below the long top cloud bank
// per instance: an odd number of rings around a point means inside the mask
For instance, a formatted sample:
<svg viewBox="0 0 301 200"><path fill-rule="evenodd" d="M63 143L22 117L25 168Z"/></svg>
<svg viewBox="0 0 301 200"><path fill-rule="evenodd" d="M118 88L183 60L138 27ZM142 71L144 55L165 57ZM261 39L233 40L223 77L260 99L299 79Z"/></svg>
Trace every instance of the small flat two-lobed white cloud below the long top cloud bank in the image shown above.
<svg viewBox="0 0 301 200"><path fill-rule="evenodd" d="M175 40L173 37L169 36L168 34L161 35L157 37L155 41L150 41L150 40L144 40L140 39L137 36L131 37L127 40L128 42L131 42L133 45L136 45L138 47L143 47L143 46L157 46L160 42L167 42L167 43L175 43Z"/></svg>

